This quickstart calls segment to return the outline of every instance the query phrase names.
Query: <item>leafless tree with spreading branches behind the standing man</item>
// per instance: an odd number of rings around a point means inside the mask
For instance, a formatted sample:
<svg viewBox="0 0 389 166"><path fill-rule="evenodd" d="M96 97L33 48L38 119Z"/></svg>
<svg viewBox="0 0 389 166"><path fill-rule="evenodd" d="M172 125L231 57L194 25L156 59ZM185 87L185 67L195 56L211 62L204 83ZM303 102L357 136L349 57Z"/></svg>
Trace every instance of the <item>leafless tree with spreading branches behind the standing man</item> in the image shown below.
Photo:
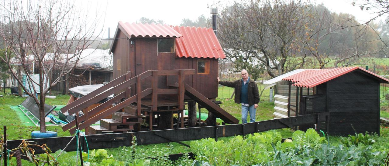
<svg viewBox="0 0 389 166"><path fill-rule="evenodd" d="M219 39L224 48L231 49L225 51L228 57L243 61L258 59L267 73L276 77L289 70L285 68L288 61L293 61L289 57L296 57L301 49L296 43L304 35L305 9L304 4L294 1L235 3L222 11ZM304 56L297 58L298 63L289 66L291 69L305 64Z"/></svg>

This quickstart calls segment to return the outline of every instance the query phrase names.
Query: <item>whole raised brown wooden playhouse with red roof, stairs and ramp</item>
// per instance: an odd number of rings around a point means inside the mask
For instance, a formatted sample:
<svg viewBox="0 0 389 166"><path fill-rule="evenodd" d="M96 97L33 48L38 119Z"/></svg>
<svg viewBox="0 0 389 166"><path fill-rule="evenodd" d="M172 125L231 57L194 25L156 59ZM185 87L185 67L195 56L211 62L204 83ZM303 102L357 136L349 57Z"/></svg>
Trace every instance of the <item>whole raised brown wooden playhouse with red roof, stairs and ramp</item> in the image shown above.
<svg viewBox="0 0 389 166"><path fill-rule="evenodd" d="M69 114L84 110L80 129L87 128L89 134L141 131L142 122L149 130L172 129L173 114L179 117L177 127L183 128L186 104L189 121L195 119L189 126L196 126L196 102L210 112L208 125L215 125L216 117L229 124L239 122L215 104L218 61L225 55L212 28L119 22L115 38L110 49L114 80L61 109ZM112 119L103 119L111 114ZM97 121L100 126L90 126ZM63 130L74 133L74 126L72 121Z"/></svg>

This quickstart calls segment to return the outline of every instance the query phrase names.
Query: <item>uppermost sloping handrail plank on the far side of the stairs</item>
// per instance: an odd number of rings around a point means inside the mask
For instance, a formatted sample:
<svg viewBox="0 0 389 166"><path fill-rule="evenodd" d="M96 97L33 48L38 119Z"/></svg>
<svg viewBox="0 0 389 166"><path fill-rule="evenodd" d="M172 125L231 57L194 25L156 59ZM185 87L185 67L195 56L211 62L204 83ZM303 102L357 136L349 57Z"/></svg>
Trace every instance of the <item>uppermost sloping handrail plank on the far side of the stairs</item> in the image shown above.
<svg viewBox="0 0 389 166"><path fill-rule="evenodd" d="M126 80L126 76L127 75L130 75L131 73L128 72L118 78L116 78L115 80L112 80L110 81L109 83L103 85L102 87L94 90L93 92L79 98L78 100L75 100L74 102L71 102L70 104L68 105L65 105L65 107L62 107L61 108L61 112L62 113L65 113L68 111L68 109L71 109L72 107L78 105L78 104L81 104L82 102L85 102L86 100L90 99L91 97L95 97L96 95L98 95L99 93L102 93L104 90L107 90L108 88L112 87L112 86L115 86L115 85L118 85L119 83L123 82Z"/></svg>

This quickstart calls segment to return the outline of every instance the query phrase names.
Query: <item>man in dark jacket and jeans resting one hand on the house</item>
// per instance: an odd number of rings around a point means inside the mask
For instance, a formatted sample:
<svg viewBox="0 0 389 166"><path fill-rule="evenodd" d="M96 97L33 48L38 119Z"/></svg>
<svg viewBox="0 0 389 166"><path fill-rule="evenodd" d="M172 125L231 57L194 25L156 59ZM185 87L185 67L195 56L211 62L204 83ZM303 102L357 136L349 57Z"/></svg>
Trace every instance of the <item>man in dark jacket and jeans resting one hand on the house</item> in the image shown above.
<svg viewBox="0 0 389 166"><path fill-rule="evenodd" d="M255 122L255 111L259 103L258 86L251 80L247 70L241 72L242 79L236 81L220 81L220 85L235 88L235 103L242 104L242 123L247 123L247 112L250 113L250 122Z"/></svg>

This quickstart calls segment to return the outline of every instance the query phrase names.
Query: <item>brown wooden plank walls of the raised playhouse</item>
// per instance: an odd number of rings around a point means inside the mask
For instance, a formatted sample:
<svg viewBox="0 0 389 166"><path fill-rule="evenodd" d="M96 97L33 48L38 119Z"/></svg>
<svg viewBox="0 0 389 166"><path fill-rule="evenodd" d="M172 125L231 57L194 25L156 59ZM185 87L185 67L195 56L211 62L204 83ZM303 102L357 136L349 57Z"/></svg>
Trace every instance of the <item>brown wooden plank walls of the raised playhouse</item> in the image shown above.
<svg viewBox="0 0 389 166"><path fill-rule="evenodd" d="M116 38L126 38L119 30ZM135 44L130 44L130 41ZM177 57L175 53L157 53L157 38L131 38L118 39L112 52L114 54L114 79L131 71L134 77L147 70L167 70L167 69L195 69L197 73L197 60L203 58ZM141 55L141 56L137 56ZM185 77L185 83L192 86L207 98L217 97L217 74L219 68L218 59L209 60L209 74L194 74ZM159 88L166 88L166 85L174 85L177 76L159 76ZM147 80L142 81L142 85L147 86ZM131 88L132 95L135 94L135 86Z"/></svg>

